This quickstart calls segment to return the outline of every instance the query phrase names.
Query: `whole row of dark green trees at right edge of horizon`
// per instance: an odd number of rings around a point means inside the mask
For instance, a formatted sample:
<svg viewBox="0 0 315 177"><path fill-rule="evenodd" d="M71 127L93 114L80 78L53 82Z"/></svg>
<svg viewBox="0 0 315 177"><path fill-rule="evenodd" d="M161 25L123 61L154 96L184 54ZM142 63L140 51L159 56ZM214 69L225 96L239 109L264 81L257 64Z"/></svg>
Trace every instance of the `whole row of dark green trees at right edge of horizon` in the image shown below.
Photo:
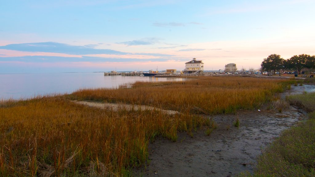
<svg viewBox="0 0 315 177"><path fill-rule="evenodd" d="M261 69L264 71L272 71L276 74L276 70L295 70L298 74L302 69L315 68L315 55L294 55L289 59L283 59L278 54L271 54L261 63Z"/></svg>

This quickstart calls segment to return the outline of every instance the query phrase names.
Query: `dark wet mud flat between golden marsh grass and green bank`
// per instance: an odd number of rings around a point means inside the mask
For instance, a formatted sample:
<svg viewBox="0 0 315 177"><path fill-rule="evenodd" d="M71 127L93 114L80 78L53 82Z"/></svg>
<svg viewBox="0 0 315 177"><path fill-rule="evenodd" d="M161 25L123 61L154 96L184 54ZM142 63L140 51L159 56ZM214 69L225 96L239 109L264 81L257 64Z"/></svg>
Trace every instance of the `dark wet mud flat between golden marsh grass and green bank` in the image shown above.
<svg viewBox="0 0 315 177"><path fill-rule="evenodd" d="M280 95L311 92L314 85L292 86ZM218 125L209 136L198 130L193 137L178 134L177 142L159 138L149 145L149 162L135 168L134 176L234 176L244 170L253 172L256 158L284 130L306 119L303 110L289 106L278 110L238 111L211 116ZM236 118L238 128L233 126Z"/></svg>

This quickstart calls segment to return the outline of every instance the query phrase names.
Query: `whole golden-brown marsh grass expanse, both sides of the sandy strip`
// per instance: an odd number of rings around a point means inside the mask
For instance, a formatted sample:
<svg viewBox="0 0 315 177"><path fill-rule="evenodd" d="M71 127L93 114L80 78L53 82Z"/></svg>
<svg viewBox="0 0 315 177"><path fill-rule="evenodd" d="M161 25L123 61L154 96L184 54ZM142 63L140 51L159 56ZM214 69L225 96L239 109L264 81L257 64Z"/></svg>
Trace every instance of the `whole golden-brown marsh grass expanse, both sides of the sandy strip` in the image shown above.
<svg viewBox="0 0 315 177"><path fill-rule="evenodd" d="M206 134L210 134L216 123L196 113L252 109L270 100L273 93L283 91L279 83L256 78L198 77L185 84L137 82L119 89L1 100L0 175L129 176L132 167L148 160L148 144L157 136L177 141L178 131L193 136L198 128L206 128ZM151 105L181 113L106 110L69 99ZM196 107L199 111L192 111Z"/></svg>

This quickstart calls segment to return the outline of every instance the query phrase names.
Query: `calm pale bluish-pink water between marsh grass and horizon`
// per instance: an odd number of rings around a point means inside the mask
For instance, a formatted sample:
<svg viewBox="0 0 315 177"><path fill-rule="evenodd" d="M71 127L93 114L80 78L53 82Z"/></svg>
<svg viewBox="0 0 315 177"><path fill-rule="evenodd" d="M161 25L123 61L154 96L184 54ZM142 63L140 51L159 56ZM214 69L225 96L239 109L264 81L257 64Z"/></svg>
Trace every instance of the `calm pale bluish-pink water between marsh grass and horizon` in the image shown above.
<svg viewBox="0 0 315 177"><path fill-rule="evenodd" d="M182 78L104 76L104 73L0 74L0 99L72 93L80 88L118 88L135 81L181 81Z"/></svg>

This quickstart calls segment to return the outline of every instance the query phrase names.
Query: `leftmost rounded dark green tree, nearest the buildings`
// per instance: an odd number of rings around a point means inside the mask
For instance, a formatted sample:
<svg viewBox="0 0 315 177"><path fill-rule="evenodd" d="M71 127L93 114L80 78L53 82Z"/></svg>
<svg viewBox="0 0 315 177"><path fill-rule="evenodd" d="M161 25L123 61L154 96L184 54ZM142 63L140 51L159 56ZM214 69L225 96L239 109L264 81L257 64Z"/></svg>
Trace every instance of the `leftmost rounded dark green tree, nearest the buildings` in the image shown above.
<svg viewBox="0 0 315 177"><path fill-rule="evenodd" d="M273 70L276 74L276 70L283 68L283 61L284 59L280 55L271 54L261 63L261 68L265 71Z"/></svg>

